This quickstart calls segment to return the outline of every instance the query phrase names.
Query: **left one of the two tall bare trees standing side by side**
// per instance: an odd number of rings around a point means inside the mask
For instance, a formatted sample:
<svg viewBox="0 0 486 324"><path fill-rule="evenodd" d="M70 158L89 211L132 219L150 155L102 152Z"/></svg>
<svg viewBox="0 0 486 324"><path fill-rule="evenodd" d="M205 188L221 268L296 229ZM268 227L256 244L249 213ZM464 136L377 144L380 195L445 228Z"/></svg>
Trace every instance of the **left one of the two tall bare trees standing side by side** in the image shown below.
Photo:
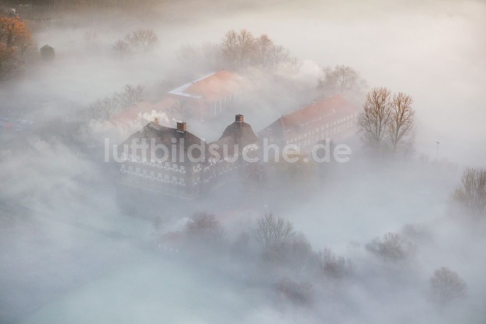
<svg viewBox="0 0 486 324"><path fill-rule="evenodd" d="M364 111L358 117L358 125L364 132L364 142L379 149L386 134L391 116L391 91L373 88L366 94Z"/></svg>

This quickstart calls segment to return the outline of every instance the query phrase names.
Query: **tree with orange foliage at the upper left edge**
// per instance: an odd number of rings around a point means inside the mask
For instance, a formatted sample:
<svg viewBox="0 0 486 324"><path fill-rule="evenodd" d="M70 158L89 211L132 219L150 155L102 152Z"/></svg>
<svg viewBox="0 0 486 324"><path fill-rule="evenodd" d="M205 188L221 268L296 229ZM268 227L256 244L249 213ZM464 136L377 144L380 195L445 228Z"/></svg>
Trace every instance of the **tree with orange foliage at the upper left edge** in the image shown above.
<svg viewBox="0 0 486 324"><path fill-rule="evenodd" d="M22 70L22 56L31 46L31 33L22 20L0 17L0 81Z"/></svg>

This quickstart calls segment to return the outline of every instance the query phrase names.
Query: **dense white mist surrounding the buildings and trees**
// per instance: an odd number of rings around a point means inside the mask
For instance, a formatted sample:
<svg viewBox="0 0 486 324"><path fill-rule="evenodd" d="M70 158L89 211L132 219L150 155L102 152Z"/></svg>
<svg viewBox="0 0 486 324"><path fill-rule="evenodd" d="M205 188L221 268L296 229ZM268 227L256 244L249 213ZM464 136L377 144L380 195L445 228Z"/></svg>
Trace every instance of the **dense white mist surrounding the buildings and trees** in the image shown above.
<svg viewBox="0 0 486 324"><path fill-rule="evenodd" d="M0 84L0 117L38 125L76 120L79 109L125 84L144 85L143 99L155 102L200 76L177 62L180 45L217 43L228 29L247 28L300 59L298 73L275 72L278 83L260 71L242 72L258 89L241 111L255 132L312 102L322 67L346 64L370 87L413 96L417 154L377 161L355 139L351 162L324 166L320 183L295 189L269 182L253 191L236 179L202 199L169 200L158 224L119 209L114 170L100 163L100 152L82 151L50 129L12 140L0 148L0 323L484 323L484 224L464 220L451 208L451 194L464 166L486 161L485 3L183 1L157 10L160 18L123 22L73 15L77 27L65 20L69 27L35 34L38 45L54 47L56 59ZM156 50L113 59L111 44L143 27L158 35ZM97 36L87 39L93 30ZM231 118L191 121L188 130L216 140ZM113 133L109 123L73 129L87 144ZM434 161L435 141L439 160L451 164ZM420 154L429 162L419 162ZM191 258L154 250L161 234L182 231L198 210L216 215L228 244L273 211L293 222L314 251L350 258L355 274L312 281L312 305L295 306L275 289L286 270L209 252ZM417 249L407 260L383 261L364 247L406 224L426 233L411 239ZM437 309L427 299L428 280L444 266L465 280L468 296ZM260 285L248 284L248 273L258 273L250 279Z"/></svg>

